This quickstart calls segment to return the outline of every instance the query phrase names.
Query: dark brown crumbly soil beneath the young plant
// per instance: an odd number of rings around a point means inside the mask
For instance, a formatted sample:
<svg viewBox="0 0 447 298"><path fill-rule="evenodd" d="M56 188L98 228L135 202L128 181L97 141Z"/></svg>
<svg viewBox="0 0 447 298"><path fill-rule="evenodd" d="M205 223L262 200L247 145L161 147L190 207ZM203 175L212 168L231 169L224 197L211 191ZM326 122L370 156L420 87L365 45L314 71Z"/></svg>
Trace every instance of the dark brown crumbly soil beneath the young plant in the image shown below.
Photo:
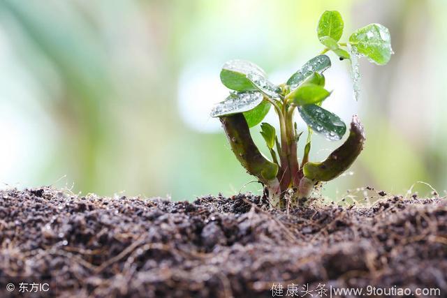
<svg viewBox="0 0 447 298"><path fill-rule="evenodd" d="M447 200L383 195L367 207L287 213L250 194L171 202L0 191L0 297L20 296L4 289L24 276L58 297L272 297L279 283L284 297L290 285L314 297L323 285L446 297Z"/></svg>

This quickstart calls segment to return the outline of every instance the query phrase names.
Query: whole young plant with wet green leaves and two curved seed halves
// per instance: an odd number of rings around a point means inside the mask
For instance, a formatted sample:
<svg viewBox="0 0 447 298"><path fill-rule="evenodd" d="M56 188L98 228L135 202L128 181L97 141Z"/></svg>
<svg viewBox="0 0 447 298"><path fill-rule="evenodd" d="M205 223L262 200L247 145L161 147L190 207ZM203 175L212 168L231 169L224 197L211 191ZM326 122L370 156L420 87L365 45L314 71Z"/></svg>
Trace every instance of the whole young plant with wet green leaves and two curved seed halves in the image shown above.
<svg viewBox="0 0 447 298"><path fill-rule="evenodd" d="M383 65L393 54L390 33L381 24L358 29L349 37L349 43L339 43L342 33L342 16L337 11L325 11L317 27L318 39L325 45L323 52L307 61L284 84L273 84L261 68L249 61L231 60L221 70L221 82L232 91L226 100L213 107L211 116L219 117L237 160L265 186L274 208L308 204L319 182L338 177L362 151L365 133L354 115L346 141L325 161L309 161L312 133L324 135L330 141L341 140L346 133L342 119L321 107L331 94L324 88L323 72L331 66L325 52L332 51L340 60L351 61L356 98L358 57ZM256 147L249 128L261 123L271 106L279 118L279 136L273 126L261 124L270 161ZM307 124L307 140L300 160L297 146L302 132L298 133L293 121L297 110Z"/></svg>

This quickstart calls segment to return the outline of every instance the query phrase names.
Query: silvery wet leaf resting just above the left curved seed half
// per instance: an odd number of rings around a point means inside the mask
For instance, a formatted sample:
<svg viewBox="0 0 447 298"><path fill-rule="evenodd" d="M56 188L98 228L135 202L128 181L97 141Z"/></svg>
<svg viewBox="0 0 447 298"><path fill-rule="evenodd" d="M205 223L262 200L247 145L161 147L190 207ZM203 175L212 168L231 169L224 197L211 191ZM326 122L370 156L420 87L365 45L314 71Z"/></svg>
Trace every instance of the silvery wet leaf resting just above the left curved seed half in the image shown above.
<svg viewBox="0 0 447 298"><path fill-rule="evenodd" d="M217 103L212 107L211 117L222 117L253 110L255 107L263 103L263 99L263 94L258 91L236 92L230 94L230 96L221 103Z"/></svg>

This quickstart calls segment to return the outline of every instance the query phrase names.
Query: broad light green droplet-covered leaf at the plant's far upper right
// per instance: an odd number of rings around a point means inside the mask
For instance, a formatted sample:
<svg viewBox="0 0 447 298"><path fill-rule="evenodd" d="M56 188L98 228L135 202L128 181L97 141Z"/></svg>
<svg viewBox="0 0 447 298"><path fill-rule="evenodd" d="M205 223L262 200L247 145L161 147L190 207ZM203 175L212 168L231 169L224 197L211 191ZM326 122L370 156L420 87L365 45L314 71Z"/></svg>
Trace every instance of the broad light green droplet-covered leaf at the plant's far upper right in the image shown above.
<svg viewBox="0 0 447 298"><path fill-rule="evenodd" d="M379 65L387 64L393 54L390 31L381 24L369 24L358 29L349 37L349 43L359 54Z"/></svg>

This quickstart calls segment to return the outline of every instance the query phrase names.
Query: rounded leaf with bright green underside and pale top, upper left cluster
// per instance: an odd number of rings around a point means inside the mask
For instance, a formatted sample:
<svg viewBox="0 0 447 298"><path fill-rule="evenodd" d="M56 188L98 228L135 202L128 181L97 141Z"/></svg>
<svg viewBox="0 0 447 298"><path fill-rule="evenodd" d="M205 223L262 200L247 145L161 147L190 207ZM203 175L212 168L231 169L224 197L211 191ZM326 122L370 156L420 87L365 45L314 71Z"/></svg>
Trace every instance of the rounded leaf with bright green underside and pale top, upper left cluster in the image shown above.
<svg viewBox="0 0 447 298"><path fill-rule="evenodd" d="M250 61L230 60L222 66L221 82L235 91L256 91L258 88L247 78L249 73L265 77L264 70Z"/></svg>

